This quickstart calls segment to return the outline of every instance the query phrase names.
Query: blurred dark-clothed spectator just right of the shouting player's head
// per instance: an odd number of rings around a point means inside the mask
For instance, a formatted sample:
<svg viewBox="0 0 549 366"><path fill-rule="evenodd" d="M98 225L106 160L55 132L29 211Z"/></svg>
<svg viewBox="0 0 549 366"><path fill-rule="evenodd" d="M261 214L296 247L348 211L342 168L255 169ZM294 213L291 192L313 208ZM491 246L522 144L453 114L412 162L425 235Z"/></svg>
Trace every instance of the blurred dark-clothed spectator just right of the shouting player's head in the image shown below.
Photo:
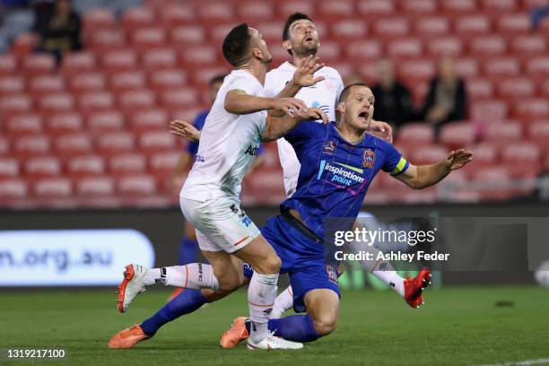
<svg viewBox="0 0 549 366"><path fill-rule="evenodd" d="M378 83L371 91L376 98L374 118L397 128L415 119L416 111L408 88L396 80L395 68L389 59L379 61Z"/></svg>

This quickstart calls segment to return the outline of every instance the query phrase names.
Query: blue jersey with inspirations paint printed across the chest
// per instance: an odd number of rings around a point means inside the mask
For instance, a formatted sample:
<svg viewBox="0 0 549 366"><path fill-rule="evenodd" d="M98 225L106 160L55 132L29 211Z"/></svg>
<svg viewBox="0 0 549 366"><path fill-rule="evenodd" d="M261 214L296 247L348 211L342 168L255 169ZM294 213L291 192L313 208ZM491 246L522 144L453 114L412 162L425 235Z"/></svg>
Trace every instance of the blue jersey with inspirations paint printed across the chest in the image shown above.
<svg viewBox="0 0 549 366"><path fill-rule="evenodd" d="M379 170L397 175L408 169L391 144L372 135L349 144L335 128L302 122L284 136L301 162L297 189L283 206L297 210L301 220L318 237L330 218L355 218Z"/></svg>

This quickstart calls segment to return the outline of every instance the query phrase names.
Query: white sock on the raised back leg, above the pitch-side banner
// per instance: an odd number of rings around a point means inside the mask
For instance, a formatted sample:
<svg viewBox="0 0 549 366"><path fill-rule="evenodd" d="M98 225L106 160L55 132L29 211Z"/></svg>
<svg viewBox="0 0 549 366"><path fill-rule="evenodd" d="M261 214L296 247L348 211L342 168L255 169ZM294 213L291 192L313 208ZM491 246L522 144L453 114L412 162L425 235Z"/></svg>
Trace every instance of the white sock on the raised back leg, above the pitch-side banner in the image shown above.
<svg viewBox="0 0 549 366"><path fill-rule="evenodd" d="M148 286L154 283L194 290L219 290L212 266L202 263L149 269L144 275L144 284Z"/></svg>

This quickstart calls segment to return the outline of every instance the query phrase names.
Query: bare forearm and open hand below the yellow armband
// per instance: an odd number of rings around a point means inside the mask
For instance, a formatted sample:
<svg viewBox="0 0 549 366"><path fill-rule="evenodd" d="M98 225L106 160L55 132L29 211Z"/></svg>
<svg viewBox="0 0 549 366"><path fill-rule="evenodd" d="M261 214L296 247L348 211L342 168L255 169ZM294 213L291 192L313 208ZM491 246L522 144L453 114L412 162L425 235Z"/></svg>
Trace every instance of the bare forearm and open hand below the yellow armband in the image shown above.
<svg viewBox="0 0 549 366"><path fill-rule="evenodd" d="M408 187L421 189L430 187L440 182L450 171L463 168L466 163L473 160L473 153L459 149L450 152L446 159L432 165L414 166L410 164L407 170L395 176L396 179L405 182Z"/></svg>

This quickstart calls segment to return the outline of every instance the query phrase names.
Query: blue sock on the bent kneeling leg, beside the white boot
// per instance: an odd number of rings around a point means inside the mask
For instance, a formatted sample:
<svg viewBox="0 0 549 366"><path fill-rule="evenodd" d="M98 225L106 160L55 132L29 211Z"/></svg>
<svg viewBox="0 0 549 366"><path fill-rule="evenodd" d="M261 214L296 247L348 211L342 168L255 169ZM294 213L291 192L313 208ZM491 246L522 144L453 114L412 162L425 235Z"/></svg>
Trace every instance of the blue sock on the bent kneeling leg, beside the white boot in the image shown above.
<svg viewBox="0 0 549 366"><path fill-rule="evenodd" d="M246 322L249 332L250 322ZM310 315L291 315L289 317L270 319L269 330L274 335L280 336L288 341L312 342L320 338L315 329Z"/></svg>

